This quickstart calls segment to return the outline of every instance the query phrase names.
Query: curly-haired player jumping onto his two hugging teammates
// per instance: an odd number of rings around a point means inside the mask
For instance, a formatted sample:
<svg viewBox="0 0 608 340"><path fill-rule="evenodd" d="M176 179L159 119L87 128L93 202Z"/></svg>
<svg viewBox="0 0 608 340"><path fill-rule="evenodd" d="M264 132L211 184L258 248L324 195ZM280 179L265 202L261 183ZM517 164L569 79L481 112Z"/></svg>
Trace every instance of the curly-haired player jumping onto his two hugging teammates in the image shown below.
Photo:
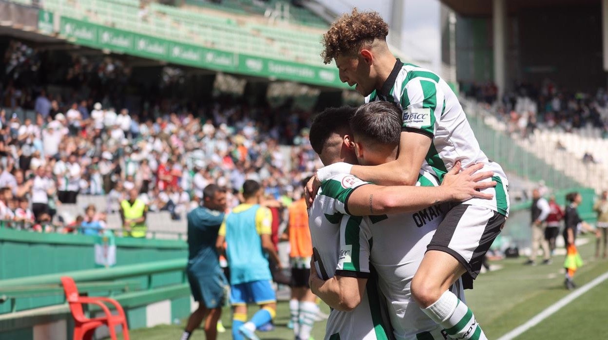
<svg viewBox="0 0 608 340"><path fill-rule="evenodd" d="M502 168L480 150L466 115L452 89L434 72L395 58L386 43L389 27L376 12L356 9L337 19L323 35L325 63L336 61L340 80L365 96L401 106L403 123L399 155L375 166L332 164L317 172L323 181L351 173L382 185L413 185L420 169L442 181L460 161L464 168L483 163L494 172L484 189L493 199L472 198L447 212L427 247L412 280L412 295L431 319L457 339L486 339L471 310L448 288L463 276L472 288L483 257L502 230L509 212L508 181ZM318 182L317 182L318 184ZM308 193L314 192L309 182ZM373 199L370 196L370 199Z"/></svg>

